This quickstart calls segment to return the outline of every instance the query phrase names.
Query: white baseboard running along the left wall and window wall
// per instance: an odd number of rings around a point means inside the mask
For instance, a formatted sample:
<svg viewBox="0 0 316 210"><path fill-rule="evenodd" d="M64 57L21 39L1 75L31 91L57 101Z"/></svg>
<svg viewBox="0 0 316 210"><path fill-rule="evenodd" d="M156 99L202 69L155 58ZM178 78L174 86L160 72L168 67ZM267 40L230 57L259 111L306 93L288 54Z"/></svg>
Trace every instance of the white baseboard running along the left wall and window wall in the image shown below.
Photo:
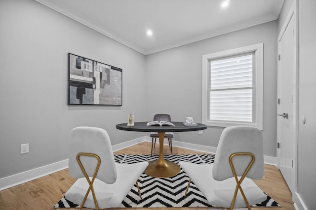
<svg viewBox="0 0 316 210"><path fill-rule="evenodd" d="M148 136L144 136L144 137L133 139L133 140L130 140L128 142L124 142L118 145L113 145L112 148L113 148L113 151L117 151L117 150L121 150L130 146L136 145L144 141L151 142L152 139ZM185 142L172 141L172 146L185 148L189 150L203 151L203 152L208 152L208 153L216 152L216 148L214 147L196 145L196 144L185 143ZM264 158L265 158L266 164L276 165L276 157L264 156ZM1 178L0 191L16 186L18 184L22 184L30 180L38 179L40 177L55 173L57 171L61 171L66 168L68 168L68 159L62 160L56 163L52 163L46 166L42 166L40 168L32 169L26 172L22 172L19 174L15 174L9 177Z"/></svg>

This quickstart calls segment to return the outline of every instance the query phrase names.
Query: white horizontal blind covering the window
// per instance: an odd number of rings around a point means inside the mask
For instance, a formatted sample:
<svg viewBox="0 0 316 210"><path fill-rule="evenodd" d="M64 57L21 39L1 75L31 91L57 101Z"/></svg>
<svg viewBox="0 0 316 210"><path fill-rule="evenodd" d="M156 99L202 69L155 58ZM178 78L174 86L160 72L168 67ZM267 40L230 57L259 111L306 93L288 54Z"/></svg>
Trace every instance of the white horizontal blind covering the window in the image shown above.
<svg viewBox="0 0 316 210"><path fill-rule="evenodd" d="M209 120L253 122L253 57L209 60Z"/></svg>

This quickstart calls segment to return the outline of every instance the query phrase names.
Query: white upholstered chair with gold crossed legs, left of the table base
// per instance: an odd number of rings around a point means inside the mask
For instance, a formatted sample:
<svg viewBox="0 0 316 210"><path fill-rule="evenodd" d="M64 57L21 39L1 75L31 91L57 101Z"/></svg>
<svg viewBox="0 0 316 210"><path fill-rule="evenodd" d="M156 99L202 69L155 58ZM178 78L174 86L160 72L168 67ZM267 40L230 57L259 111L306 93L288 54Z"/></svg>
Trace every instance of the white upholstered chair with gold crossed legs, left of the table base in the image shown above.
<svg viewBox="0 0 316 210"><path fill-rule="evenodd" d="M69 174L78 179L65 198L80 209L118 207L148 166L148 162L119 164L110 137L102 128L77 127L71 131Z"/></svg>

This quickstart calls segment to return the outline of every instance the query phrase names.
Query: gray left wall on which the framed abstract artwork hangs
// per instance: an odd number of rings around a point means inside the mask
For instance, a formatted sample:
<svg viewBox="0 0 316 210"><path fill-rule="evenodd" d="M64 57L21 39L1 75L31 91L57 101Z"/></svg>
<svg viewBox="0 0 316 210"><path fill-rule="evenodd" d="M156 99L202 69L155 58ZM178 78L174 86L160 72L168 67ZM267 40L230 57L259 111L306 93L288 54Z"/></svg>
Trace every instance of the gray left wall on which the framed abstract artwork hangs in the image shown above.
<svg viewBox="0 0 316 210"><path fill-rule="evenodd" d="M115 128L147 120L144 55L35 0L1 0L0 29L0 178L67 159L76 126L105 128L113 145L144 136ZM69 52L122 68L123 105L67 106Z"/></svg>

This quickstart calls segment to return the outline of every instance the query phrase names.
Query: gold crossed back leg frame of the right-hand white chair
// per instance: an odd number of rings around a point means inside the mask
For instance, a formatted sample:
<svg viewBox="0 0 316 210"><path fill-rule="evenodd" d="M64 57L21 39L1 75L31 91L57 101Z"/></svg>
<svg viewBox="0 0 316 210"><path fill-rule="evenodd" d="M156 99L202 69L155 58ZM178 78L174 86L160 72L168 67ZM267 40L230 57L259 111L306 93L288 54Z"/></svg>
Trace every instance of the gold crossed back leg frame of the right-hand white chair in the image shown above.
<svg viewBox="0 0 316 210"><path fill-rule="evenodd" d="M251 161L249 162L246 170L244 171L244 173L242 174L240 180L238 180L238 177L237 177L237 174L236 174L236 170L235 170L235 167L234 167L234 164L233 164L233 158L235 156L240 156L240 155L246 155L246 156L250 156L251 157ZM230 207L230 210L233 210L234 209L234 205L235 205L235 201L236 201L236 197L237 197L237 193L238 193L238 189L240 190L240 193L243 197L243 200L245 201L246 205L247 205L247 208L248 210L251 210L250 208L250 205L249 205L249 202L241 188L241 182L244 180L244 178L246 177L246 175L248 174L251 166L253 165L255 161L255 156L254 154L250 153L250 152L237 152L237 153L233 153L230 157L229 157L229 163L231 165L231 168L232 168L232 171L233 171L233 174L234 174L234 178L236 180L236 188L235 188L235 192L234 192L234 196L233 196L233 200L232 200L232 203L231 203L231 207Z"/></svg>

